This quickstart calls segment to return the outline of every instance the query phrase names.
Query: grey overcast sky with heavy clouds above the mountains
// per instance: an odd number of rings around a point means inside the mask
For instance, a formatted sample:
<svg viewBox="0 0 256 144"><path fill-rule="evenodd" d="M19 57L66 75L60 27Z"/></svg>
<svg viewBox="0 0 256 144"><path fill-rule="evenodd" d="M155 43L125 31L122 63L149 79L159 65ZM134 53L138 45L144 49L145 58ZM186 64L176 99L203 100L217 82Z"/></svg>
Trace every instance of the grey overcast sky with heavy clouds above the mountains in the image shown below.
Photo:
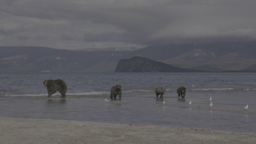
<svg viewBox="0 0 256 144"><path fill-rule="evenodd" d="M0 46L256 41L256 0L0 0Z"/></svg>

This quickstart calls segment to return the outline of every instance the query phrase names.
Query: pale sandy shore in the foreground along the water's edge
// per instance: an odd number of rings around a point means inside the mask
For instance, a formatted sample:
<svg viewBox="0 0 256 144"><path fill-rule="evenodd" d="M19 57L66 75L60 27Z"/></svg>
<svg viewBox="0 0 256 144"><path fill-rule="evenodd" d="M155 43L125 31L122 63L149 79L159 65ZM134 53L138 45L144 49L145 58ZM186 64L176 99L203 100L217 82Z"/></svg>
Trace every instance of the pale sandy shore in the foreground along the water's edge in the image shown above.
<svg viewBox="0 0 256 144"><path fill-rule="evenodd" d="M255 144L256 133L0 117L1 144Z"/></svg>

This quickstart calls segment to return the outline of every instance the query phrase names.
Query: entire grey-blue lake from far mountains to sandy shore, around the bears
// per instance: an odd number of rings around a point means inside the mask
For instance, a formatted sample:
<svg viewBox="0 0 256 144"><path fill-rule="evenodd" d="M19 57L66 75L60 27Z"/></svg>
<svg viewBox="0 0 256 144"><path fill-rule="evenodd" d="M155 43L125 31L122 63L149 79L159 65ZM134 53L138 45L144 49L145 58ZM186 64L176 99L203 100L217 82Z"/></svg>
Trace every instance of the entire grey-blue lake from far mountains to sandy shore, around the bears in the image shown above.
<svg viewBox="0 0 256 144"><path fill-rule="evenodd" d="M67 97L46 98L43 80L58 78ZM255 79L256 73L0 73L0 116L256 132ZM122 100L110 100L115 84L122 84ZM157 86L166 88L164 98L156 98ZM179 86L185 98L177 98Z"/></svg>

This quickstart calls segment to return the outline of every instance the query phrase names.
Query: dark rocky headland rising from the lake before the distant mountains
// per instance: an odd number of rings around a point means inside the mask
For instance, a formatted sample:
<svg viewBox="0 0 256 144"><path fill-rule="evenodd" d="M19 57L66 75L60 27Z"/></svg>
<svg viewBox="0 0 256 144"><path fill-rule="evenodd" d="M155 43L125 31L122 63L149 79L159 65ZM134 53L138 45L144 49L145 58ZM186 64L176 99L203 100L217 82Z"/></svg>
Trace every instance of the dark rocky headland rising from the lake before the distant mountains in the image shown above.
<svg viewBox="0 0 256 144"><path fill-rule="evenodd" d="M157 62L148 58L134 56L122 59L118 62L115 72L206 72L203 70L192 70L178 68L163 62Z"/></svg>

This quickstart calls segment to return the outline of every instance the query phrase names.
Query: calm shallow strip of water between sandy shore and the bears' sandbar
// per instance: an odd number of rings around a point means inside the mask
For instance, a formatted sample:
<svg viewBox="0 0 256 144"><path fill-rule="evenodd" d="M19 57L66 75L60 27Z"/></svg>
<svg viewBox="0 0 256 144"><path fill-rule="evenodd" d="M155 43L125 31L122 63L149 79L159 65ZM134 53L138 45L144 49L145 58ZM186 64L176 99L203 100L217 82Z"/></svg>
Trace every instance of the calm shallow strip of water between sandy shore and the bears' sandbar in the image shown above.
<svg viewBox="0 0 256 144"><path fill-rule="evenodd" d="M0 116L6 117L154 124L237 132L256 130L254 124L256 114L253 110L207 108L196 105L195 100L189 105L179 98L126 97L122 101L109 102L105 101L105 97L0 99L2 102ZM164 100L165 105L163 105ZM174 104L177 101L179 104ZM249 112L251 112L250 116Z"/></svg>

